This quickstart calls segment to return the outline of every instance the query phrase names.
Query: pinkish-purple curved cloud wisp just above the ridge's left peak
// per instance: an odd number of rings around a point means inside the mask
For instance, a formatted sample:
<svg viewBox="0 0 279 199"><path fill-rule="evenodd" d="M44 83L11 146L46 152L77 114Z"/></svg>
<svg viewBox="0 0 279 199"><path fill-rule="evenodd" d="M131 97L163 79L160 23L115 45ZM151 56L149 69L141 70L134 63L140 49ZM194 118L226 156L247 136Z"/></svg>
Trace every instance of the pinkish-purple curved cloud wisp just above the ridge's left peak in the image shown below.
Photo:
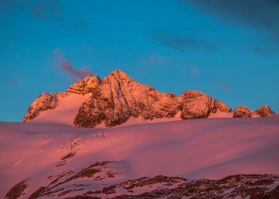
<svg viewBox="0 0 279 199"><path fill-rule="evenodd" d="M92 77L94 75L93 72L91 72L88 68L83 68L80 70L73 68L70 62L63 58L63 56L60 54L60 50L56 50L55 54L60 68L63 70L63 72L70 74L72 77L83 79L84 77Z"/></svg>

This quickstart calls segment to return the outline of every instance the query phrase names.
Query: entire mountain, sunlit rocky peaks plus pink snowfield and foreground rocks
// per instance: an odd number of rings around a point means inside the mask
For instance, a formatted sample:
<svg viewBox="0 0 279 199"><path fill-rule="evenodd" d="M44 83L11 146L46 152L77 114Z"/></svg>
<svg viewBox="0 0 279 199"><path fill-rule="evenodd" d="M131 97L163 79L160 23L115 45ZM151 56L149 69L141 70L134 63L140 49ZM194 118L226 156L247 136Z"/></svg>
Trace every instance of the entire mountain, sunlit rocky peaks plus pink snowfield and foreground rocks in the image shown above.
<svg viewBox="0 0 279 199"><path fill-rule="evenodd" d="M27 123L0 122L0 198L278 198L273 114L159 92L120 70L86 77L43 92Z"/></svg>

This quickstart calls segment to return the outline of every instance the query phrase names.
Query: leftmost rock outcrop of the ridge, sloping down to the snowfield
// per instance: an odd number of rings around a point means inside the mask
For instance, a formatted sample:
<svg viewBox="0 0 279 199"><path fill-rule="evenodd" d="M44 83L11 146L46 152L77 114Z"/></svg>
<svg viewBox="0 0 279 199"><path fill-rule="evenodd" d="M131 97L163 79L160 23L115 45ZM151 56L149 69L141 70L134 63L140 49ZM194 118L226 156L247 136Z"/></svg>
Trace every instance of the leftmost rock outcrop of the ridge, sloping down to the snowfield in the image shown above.
<svg viewBox="0 0 279 199"><path fill-rule="evenodd" d="M23 122L28 122L37 117L41 112L48 109L55 109L58 106L57 96L53 93L43 92L28 109L28 114L23 118Z"/></svg>

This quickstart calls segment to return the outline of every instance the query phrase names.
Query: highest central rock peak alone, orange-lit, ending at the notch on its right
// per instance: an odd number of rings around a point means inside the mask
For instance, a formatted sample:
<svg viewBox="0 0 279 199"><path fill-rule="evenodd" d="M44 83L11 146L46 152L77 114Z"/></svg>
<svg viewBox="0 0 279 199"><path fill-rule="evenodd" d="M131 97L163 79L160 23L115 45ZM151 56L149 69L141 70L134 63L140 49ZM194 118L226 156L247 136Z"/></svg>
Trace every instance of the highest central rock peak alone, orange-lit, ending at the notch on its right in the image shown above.
<svg viewBox="0 0 279 199"><path fill-rule="evenodd" d="M80 107L74 124L78 127L107 127L123 124L132 117L154 119L174 117L181 109L181 99L174 94L154 90L115 70L104 77L92 97Z"/></svg>

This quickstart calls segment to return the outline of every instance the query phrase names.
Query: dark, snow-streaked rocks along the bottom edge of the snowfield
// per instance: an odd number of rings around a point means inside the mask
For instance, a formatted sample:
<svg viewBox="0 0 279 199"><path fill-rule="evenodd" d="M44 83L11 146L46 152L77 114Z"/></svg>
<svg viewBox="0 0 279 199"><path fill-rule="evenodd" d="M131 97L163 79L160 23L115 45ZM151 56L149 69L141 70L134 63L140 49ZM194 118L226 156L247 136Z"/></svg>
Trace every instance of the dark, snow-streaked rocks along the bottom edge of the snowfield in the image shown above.
<svg viewBox="0 0 279 199"><path fill-rule="evenodd" d="M28 179L17 183L6 193L6 199L21 198L278 198L279 176L238 174L219 180L189 181L179 176L141 177L115 183L122 173L120 164L102 161L80 171L63 171L49 176L48 183L31 195L24 191ZM90 184L88 183L90 180Z"/></svg>

